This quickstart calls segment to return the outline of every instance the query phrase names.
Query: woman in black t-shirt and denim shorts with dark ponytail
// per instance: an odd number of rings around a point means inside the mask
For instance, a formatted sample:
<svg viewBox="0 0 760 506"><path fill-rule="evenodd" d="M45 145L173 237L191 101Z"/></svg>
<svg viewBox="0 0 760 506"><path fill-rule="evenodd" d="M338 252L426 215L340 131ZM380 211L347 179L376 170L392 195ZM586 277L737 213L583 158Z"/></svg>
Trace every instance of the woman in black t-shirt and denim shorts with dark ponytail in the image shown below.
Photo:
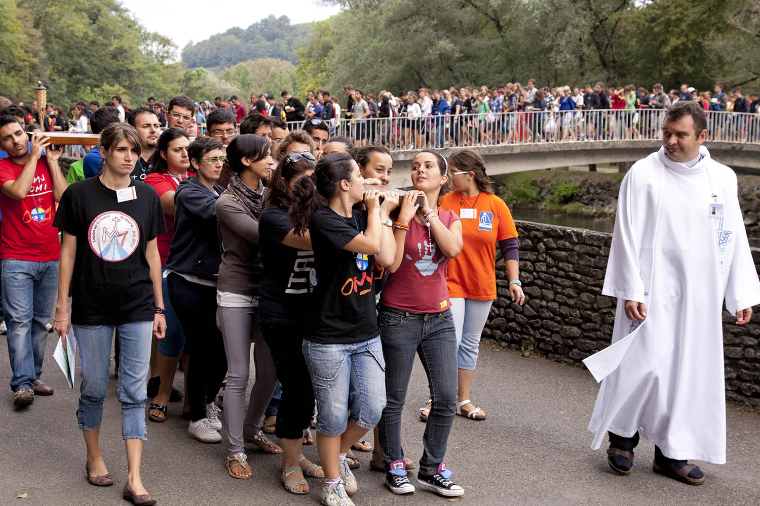
<svg viewBox="0 0 760 506"><path fill-rule="evenodd" d="M382 267L394 260L388 215L398 196L383 193L381 205L380 193L365 193L363 181L350 155L325 156L314 174L296 181L288 213L295 234L309 232L315 257L317 289L302 350L319 413L323 504L351 504L346 494L356 492L356 479L346 452L377 425L385 407L385 361L372 284L375 260ZM367 210L353 210L362 200Z"/></svg>

